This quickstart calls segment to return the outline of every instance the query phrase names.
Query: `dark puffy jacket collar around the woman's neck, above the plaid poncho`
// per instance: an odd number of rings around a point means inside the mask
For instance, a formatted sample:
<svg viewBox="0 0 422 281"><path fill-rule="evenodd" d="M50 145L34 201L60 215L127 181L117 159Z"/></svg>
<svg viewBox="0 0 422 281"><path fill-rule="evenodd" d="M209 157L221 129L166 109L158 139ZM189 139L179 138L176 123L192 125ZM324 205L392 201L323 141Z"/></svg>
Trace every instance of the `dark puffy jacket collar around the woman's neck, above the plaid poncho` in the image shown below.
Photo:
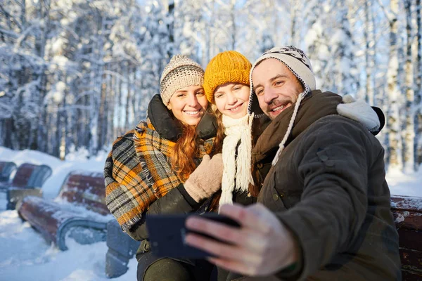
<svg viewBox="0 0 422 281"><path fill-rule="evenodd" d="M148 118L151 120L155 131L157 131L162 138L169 141L176 142L182 134L181 124L174 118L170 110L162 103L160 95L155 95L148 105ZM217 121L209 110L200 120L196 126L196 133L199 138L207 140L217 134Z"/></svg>

